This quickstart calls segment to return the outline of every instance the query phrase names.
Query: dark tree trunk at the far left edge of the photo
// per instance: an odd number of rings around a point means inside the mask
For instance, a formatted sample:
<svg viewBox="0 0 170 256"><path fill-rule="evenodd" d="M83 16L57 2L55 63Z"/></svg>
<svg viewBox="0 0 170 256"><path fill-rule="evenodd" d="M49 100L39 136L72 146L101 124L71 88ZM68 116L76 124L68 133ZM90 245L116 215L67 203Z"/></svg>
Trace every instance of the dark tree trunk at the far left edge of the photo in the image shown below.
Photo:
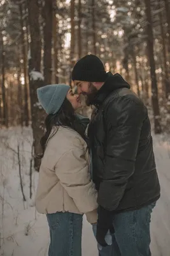
<svg viewBox="0 0 170 256"><path fill-rule="evenodd" d="M8 127L8 102L6 97L6 88L5 88L5 51L4 51L4 41L3 34L1 32L1 61L2 61L2 96L3 96L3 125Z"/></svg>

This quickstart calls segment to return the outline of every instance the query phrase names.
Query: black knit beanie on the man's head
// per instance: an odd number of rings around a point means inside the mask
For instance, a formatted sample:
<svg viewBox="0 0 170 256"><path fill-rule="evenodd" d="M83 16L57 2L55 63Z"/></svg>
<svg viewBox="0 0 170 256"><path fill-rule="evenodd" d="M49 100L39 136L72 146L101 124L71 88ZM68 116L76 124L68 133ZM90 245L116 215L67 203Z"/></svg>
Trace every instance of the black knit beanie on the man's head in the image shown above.
<svg viewBox="0 0 170 256"><path fill-rule="evenodd" d="M72 79L88 82L104 82L107 73L102 61L95 55L86 55L74 65Z"/></svg>

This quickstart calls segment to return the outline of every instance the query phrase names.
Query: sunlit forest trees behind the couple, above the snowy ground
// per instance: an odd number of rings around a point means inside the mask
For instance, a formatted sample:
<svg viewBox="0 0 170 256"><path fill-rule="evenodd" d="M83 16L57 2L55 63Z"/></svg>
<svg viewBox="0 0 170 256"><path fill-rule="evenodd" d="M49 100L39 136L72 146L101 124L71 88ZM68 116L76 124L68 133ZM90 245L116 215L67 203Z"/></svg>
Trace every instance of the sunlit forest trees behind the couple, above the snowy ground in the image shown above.
<svg viewBox="0 0 170 256"><path fill-rule="evenodd" d="M45 117L36 89L73 86L74 63L90 53L131 84L155 134L169 132L169 0L1 0L0 29L0 125L31 125L34 153Z"/></svg>

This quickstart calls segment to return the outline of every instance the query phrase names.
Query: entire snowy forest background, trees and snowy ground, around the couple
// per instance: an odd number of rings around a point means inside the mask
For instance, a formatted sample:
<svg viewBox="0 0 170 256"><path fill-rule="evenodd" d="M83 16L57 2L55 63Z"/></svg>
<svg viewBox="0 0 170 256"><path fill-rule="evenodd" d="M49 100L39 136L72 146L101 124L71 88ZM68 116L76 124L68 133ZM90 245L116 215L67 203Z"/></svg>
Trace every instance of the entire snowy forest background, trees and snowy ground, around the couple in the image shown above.
<svg viewBox="0 0 170 256"><path fill-rule="evenodd" d="M96 54L148 108L161 196L151 221L153 256L170 244L170 0L0 0L0 255L48 255L46 216L34 198L45 111L36 90L66 83ZM83 100L83 99L82 99ZM89 116L93 107L79 113ZM82 256L98 255L83 218Z"/></svg>

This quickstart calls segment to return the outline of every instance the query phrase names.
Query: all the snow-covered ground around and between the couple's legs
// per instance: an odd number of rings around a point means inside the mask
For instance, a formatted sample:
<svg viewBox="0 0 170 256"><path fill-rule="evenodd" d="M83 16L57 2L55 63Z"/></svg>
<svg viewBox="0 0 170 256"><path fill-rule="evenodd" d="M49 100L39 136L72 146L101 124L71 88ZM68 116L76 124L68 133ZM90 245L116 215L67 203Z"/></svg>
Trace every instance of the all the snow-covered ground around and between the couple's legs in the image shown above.
<svg viewBox="0 0 170 256"><path fill-rule="evenodd" d="M152 255L170 255L170 139L154 136L155 157L162 196L153 211ZM46 256L48 227L45 216L34 208L34 194L38 173L32 174L30 198L31 129L13 128L0 131L0 255ZM18 154L19 153L19 154ZM20 186L21 179L26 201ZM97 256L92 228L84 220L83 256Z"/></svg>

